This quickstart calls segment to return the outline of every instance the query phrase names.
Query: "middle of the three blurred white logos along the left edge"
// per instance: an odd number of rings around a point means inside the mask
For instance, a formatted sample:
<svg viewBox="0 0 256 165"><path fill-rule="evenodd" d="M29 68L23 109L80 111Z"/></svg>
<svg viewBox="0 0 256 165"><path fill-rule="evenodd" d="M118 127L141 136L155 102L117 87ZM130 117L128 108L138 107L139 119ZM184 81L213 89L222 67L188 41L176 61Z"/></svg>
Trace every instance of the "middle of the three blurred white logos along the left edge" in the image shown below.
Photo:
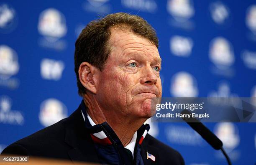
<svg viewBox="0 0 256 165"><path fill-rule="evenodd" d="M0 78L8 79L18 71L19 63L16 52L6 45L0 45Z"/></svg>

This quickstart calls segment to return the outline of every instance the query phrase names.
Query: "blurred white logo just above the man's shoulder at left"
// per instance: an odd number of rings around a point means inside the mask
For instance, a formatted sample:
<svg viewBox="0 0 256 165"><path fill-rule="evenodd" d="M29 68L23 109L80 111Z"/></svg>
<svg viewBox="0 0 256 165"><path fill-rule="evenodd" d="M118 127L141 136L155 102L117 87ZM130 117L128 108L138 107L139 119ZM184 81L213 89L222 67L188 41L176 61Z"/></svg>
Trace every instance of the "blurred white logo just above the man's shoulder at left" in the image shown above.
<svg viewBox="0 0 256 165"><path fill-rule="evenodd" d="M67 107L57 99L47 99L41 103L39 120L48 127L67 117Z"/></svg>

